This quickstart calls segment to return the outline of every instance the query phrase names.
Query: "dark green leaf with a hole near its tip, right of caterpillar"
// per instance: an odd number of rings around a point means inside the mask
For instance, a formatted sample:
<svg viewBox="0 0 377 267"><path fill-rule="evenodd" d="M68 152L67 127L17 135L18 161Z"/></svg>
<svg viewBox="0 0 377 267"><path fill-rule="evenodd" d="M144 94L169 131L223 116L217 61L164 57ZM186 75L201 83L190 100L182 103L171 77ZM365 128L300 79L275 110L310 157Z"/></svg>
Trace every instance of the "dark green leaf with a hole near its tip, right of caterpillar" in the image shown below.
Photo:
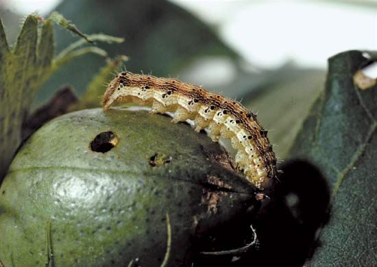
<svg viewBox="0 0 377 267"><path fill-rule="evenodd" d="M374 55L347 51L330 58L326 89L291 148L291 157L315 164L332 190L328 223L306 266L377 265L377 86L354 84Z"/></svg>

